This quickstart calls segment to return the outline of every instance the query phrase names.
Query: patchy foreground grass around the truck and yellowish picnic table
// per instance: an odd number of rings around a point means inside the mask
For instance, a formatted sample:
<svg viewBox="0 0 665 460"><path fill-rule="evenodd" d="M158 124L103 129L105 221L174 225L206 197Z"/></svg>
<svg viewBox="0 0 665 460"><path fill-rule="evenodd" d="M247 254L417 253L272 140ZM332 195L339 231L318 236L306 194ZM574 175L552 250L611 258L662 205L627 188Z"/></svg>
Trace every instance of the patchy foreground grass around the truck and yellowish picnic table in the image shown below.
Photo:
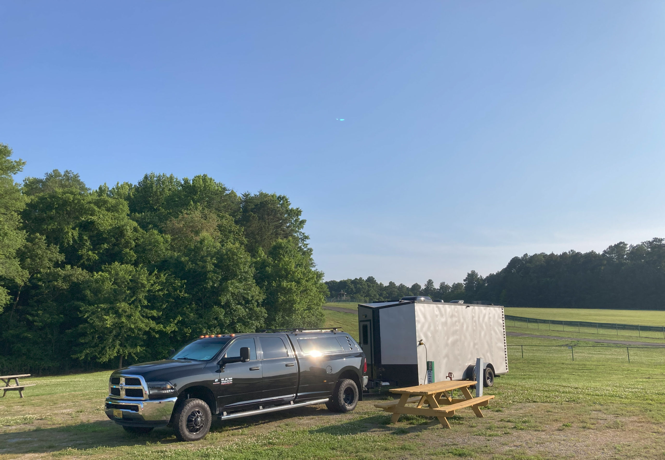
<svg viewBox="0 0 665 460"><path fill-rule="evenodd" d="M391 425L373 407L325 406L213 422L196 443L168 428L130 435L102 412L110 372L26 379L21 400L0 398L0 460L10 459L662 459L665 366L514 359L485 418L460 410L452 429L403 416Z"/></svg>

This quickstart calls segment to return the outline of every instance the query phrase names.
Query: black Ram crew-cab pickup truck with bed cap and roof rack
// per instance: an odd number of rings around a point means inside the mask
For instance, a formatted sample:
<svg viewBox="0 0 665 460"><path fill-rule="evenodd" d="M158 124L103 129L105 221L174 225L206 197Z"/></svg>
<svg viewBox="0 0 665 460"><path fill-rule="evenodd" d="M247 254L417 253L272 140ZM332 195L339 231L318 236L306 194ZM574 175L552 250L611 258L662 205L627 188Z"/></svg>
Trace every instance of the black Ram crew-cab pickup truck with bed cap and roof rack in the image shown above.
<svg viewBox="0 0 665 460"><path fill-rule="evenodd" d="M204 437L213 416L253 416L312 404L354 410L367 384L365 355L347 333L265 331L205 335L166 360L114 371L106 415L131 433L172 426Z"/></svg>

